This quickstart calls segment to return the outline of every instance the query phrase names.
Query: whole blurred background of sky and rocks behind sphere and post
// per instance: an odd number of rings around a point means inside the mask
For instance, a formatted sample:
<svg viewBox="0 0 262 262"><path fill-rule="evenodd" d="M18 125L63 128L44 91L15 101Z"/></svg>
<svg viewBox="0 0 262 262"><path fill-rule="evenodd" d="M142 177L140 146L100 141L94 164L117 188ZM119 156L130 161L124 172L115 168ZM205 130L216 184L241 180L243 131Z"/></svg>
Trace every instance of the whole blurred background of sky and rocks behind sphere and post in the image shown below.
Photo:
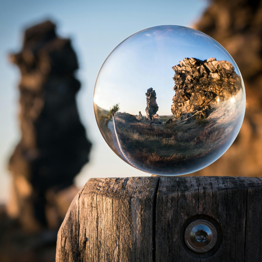
<svg viewBox="0 0 262 262"><path fill-rule="evenodd" d="M238 137L190 175L262 174L262 1L0 2L0 262L55 261L57 230L91 177L147 176L105 143L93 91L109 53L148 27L181 25L233 56L247 108Z"/></svg>

